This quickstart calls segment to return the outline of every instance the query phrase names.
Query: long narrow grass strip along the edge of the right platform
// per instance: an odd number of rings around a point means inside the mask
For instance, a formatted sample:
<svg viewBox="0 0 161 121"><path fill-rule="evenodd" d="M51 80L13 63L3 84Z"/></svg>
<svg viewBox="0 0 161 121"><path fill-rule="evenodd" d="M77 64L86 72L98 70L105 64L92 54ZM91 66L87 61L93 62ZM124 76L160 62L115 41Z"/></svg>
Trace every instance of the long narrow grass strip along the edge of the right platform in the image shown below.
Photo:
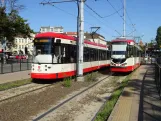
<svg viewBox="0 0 161 121"><path fill-rule="evenodd" d="M135 71L134 71L135 72ZM134 73L133 72L133 73ZM125 86L127 86L132 74L129 74L121 83L121 85L113 92L110 99L105 103L104 107L98 112L95 121L105 121L110 116L119 96L121 95Z"/></svg>

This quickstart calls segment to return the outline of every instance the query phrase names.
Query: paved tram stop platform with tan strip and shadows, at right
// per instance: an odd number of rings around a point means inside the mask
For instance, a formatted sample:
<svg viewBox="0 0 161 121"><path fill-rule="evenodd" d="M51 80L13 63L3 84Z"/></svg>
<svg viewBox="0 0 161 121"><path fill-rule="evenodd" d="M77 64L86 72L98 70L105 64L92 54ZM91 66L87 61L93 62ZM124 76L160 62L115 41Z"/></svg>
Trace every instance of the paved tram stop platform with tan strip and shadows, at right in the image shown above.
<svg viewBox="0 0 161 121"><path fill-rule="evenodd" d="M142 65L134 72L107 121L161 121L154 65Z"/></svg>

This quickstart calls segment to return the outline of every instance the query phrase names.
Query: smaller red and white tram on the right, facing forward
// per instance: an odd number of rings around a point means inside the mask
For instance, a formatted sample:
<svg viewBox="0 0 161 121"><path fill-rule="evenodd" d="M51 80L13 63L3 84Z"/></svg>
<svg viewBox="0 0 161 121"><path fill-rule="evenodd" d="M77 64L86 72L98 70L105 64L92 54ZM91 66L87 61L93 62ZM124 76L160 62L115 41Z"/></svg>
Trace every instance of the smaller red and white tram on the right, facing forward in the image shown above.
<svg viewBox="0 0 161 121"><path fill-rule="evenodd" d="M140 66L141 48L134 40L117 38L111 41L112 72L131 72Z"/></svg>

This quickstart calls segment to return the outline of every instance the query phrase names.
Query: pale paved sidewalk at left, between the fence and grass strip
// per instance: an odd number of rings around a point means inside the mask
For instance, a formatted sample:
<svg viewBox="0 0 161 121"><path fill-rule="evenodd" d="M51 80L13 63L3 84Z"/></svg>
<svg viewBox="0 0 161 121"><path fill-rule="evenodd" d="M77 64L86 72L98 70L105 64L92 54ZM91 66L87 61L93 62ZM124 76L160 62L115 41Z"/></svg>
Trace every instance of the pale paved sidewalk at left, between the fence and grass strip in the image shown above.
<svg viewBox="0 0 161 121"><path fill-rule="evenodd" d="M0 84L30 78L30 70L0 74Z"/></svg>

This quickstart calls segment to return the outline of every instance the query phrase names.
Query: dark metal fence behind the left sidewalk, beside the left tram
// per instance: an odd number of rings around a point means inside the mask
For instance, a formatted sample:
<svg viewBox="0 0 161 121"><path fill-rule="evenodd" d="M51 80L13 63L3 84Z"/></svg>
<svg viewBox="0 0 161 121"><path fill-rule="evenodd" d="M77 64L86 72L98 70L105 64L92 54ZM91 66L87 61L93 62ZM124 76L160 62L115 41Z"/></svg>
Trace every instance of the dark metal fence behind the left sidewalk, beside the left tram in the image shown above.
<svg viewBox="0 0 161 121"><path fill-rule="evenodd" d="M6 63L0 63L0 74L25 71L31 69L33 58L28 59L8 59Z"/></svg>

